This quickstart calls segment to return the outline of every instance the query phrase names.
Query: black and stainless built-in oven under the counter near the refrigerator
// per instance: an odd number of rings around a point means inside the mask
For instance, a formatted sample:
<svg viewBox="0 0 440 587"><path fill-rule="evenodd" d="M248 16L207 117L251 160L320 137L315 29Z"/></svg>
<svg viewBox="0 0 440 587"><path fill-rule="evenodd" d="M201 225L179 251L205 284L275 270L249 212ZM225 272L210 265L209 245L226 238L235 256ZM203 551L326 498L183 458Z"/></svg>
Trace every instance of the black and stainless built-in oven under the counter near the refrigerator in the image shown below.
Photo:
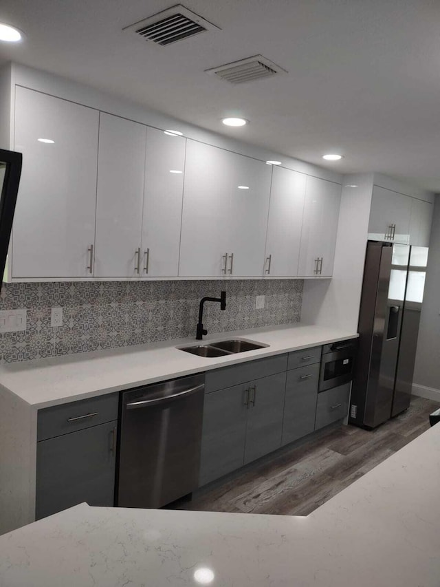
<svg viewBox="0 0 440 587"><path fill-rule="evenodd" d="M358 339L331 343L322 347L318 393L353 379Z"/></svg>

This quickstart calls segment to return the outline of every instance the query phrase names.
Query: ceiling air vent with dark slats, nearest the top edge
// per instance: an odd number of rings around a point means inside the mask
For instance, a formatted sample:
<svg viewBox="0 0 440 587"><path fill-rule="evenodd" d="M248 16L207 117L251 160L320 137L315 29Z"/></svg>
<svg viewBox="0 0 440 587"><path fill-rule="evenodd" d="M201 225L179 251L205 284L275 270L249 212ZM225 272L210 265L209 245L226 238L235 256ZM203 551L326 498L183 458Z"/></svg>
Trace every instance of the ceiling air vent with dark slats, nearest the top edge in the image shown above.
<svg viewBox="0 0 440 587"><path fill-rule="evenodd" d="M170 45L188 39L189 36L206 30L219 30L219 27L199 17L195 12L177 4L168 10L157 12L153 17L125 27L159 45Z"/></svg>

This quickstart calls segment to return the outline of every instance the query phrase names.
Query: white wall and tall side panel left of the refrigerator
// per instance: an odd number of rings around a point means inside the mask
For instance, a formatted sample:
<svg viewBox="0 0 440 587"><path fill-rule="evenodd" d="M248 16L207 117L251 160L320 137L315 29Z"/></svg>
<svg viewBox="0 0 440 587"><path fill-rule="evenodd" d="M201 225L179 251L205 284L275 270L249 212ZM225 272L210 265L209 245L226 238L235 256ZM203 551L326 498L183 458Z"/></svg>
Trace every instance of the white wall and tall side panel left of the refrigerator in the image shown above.
<svg viewBox="0 0 440 587"><path fill-rule="evenodd" d="M301 321L357 332L373 173L344 175L332 279L304 282ZM346 187L346 185L358 187Z"/></svg>

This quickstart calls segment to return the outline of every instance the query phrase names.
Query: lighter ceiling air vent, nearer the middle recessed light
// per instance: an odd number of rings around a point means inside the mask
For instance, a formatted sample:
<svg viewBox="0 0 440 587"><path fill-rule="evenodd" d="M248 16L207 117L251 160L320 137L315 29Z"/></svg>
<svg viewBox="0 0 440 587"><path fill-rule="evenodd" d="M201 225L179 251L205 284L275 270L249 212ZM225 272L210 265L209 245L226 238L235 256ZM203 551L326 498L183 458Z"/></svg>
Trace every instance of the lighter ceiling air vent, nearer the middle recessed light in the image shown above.
<svg viewBox="0 0 440 587"><path fill-rule="evenodd" d="M233 61L205 70L208 74L215 74L218 78L230 83L245 83L260 78L272 77L277 74L287 74L283 67L276 65L263 55L254 55L240 61Z"/></svg>

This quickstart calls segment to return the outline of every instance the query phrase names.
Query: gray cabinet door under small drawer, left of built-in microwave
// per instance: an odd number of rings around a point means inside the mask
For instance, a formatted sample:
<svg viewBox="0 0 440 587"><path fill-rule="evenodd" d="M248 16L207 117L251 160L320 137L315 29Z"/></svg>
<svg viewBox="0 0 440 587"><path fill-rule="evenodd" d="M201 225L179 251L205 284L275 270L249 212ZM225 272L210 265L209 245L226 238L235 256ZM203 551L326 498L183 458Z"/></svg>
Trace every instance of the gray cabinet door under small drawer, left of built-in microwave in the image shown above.
<svg viewBox="0 0 440 587"><path fill-rule="evenodd" d="M315 429L320 364L287 372L281 444L298 440Z"/></svg>

